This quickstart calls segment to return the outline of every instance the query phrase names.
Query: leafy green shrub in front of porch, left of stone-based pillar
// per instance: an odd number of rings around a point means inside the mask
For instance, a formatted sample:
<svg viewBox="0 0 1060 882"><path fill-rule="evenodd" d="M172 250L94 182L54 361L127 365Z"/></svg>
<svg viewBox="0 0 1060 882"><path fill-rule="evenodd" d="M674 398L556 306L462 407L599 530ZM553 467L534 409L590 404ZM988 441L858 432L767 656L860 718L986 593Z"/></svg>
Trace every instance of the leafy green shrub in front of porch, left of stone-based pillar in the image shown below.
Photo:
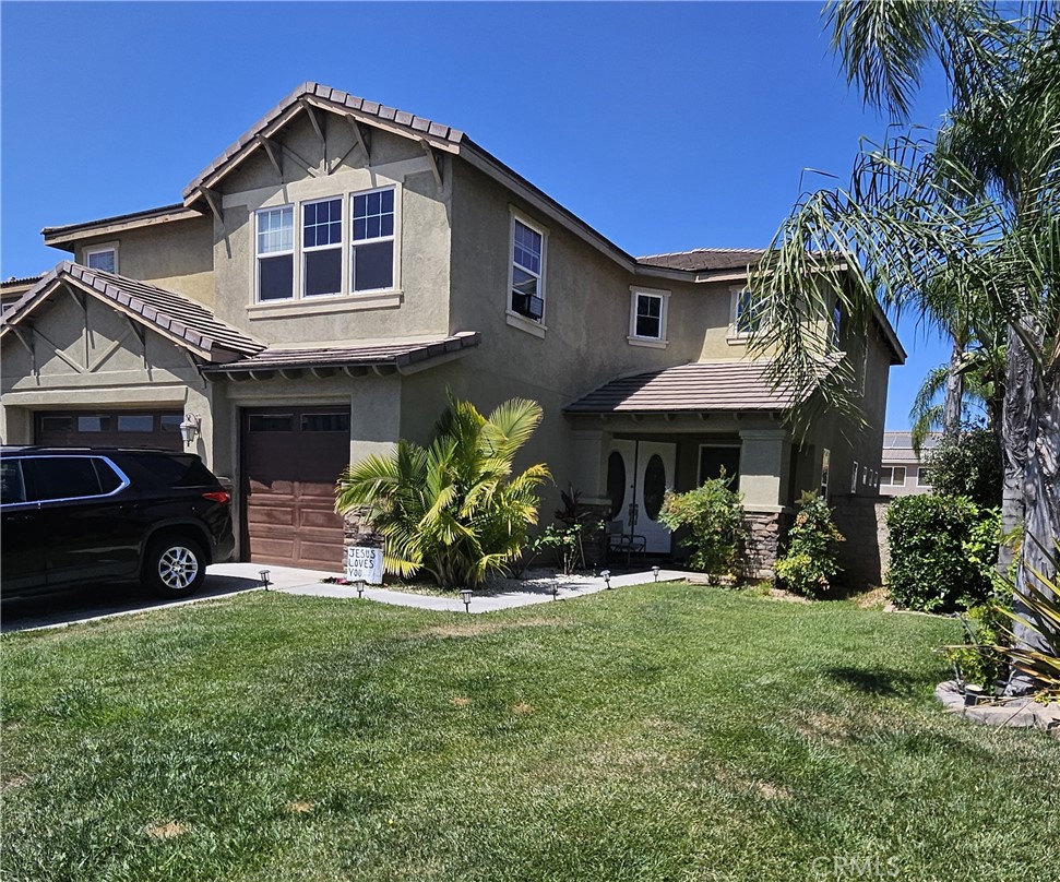
<svg viewBox="0 0 1060 882"><path fill-rule="evenodd" d="M659 522L669 529L688 527L682 545L692 549L689 563L712 576L735 575L743 543L743 494L729 488L723 469L687 493L667 492Z"/></svg>

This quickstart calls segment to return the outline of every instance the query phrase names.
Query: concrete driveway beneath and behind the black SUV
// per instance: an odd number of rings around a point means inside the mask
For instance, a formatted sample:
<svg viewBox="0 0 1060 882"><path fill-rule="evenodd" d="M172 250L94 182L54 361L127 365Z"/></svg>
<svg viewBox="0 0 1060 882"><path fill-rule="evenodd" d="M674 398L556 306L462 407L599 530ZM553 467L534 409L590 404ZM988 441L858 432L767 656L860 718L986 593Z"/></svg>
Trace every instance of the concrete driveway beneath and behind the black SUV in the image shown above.
<svg viewBox="0 0 1060 882"><path fill-rule="evenodd" d="M199 594L186 600L172 601L159 600L136 584L84 585L33 599L4 601L0 605L0 631L8 633L34 628L56 628L107 616L196 604L214 597L259 591L261 570L269 570L270 586L278 589L319 585L320 580L329 575L290 567L215 563L206 569L206 581Z"/></svg>

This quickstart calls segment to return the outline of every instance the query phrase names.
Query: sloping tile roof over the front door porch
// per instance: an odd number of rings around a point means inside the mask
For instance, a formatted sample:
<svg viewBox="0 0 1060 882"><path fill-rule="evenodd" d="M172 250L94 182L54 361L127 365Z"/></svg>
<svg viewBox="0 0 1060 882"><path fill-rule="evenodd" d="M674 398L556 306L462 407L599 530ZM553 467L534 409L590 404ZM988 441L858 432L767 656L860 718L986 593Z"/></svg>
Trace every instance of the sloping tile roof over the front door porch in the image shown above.
<svg viewBox="0 0 1060 882"><path fill-rule="evenodd" d="M774 390L767 361L700 361L619 377L563 408L571 414L784 410L806 398ZM830 369L822 365L822 376Z"/></svg>

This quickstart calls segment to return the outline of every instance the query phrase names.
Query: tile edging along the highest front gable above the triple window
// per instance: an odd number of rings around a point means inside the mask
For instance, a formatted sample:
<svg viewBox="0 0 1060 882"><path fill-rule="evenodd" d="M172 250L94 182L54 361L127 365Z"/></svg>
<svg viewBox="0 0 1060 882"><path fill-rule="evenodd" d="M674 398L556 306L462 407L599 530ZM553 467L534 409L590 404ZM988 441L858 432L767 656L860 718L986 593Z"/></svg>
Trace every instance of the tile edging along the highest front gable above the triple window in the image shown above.
<svg viewBox="0 0 1060 882"><path fill-rule="evenodd" d="M259 134L267 130L270 126L279 120L288 110L298 106L303 99L307 98L332 105L336 110L346 108L365 116L374 117L382 123L396 126L400 129L407 131L413 138L429 136L431 139L441 140L454 145L460 144L460 142L464 139L464 133L460 131L460 129L454 129L451 126L445 126L441 122L432 122L424 117L417 117L415 114L409 114L405 110L398 110L394 107L388 107L384 104L379 104L379 102L369 102L365 98L358 98L356 95L350 95L337 88L332 88L331 86L321 85L320 83L306 82L291 92L272 110L265 114L265 116L258 120L258 122L251 126L250 129L248 129L238 141L231 144L224 153L221 154L221 156L214 159L209 166L206 166L195 176L195 178L184 188L184 204L189 204L189 201L193 200L196 190L204 187L214 175L221 171L228 163L242 153L243 150L253 144Z"/></svg>

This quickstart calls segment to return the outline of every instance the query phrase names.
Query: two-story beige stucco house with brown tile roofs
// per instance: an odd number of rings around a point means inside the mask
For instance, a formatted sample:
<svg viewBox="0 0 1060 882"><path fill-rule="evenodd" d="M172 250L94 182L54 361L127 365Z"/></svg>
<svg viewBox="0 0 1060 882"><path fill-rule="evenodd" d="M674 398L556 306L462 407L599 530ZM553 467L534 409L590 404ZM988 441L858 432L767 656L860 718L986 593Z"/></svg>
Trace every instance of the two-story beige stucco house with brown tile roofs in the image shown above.
<svg viewBox="0 0 1060 882"><path fill-rule="evenodd" d="M794 438L745 357L761 252L633 258L462 132L344 92L297 88L179 204L44 236L72 260L5 313L3 440L180 446L190 414L189 449L238 491L243 559L337 569L340 470L426 441L446 388L540 402L526 461L648 552L671 549L664 489L722 466L761 568L802 489L877 493L855 463L879 473L904 359L882 313L837 338L869 427Z"/></svg>

